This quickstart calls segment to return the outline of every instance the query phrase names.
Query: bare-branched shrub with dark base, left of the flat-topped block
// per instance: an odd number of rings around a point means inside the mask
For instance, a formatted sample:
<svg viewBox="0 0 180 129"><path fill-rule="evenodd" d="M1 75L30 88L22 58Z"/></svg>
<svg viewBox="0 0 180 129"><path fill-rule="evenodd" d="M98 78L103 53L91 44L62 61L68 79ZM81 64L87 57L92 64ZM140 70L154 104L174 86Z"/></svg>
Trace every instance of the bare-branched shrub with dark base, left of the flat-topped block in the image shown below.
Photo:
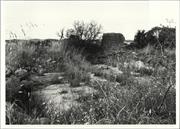
<svg viewBox="0 0 180 129"><path fill-rule="evenodd" d="M81 51L81 54L92 62L93 58L102 52L100 46L101 31L102 26L95 21L88 23L75 21L72 28L66 31L62 29L57 35L60 37L61 42L66 44L66 50L76 49Z"/></svg>

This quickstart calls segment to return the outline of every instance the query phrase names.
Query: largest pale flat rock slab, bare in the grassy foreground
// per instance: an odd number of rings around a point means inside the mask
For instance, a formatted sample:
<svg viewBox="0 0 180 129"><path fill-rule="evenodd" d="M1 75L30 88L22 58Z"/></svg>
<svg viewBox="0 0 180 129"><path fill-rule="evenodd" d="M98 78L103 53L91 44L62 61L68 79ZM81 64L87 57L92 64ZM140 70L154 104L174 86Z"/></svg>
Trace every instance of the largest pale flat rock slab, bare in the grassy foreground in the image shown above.
<svg viewBox="0 0 180 129"><path fill-rule="evenodd" d="M92 87L86 85L70 87L69 83L53 84L33 92L33 94L43 98L44 104L48 107L47 109L59 112L80 106L81 103L77 101L79 98L96 93L97 91Z"/></svg>

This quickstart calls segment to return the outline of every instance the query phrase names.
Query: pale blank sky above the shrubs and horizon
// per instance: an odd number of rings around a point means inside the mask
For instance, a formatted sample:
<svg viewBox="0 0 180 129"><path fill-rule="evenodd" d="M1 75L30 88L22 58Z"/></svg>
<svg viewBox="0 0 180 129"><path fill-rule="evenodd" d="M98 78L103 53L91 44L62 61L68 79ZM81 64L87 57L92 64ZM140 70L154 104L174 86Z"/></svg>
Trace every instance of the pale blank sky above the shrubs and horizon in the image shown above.
<svg viewBox="0 0 180 129"><path fill-rule="evenodd" d="M103 32L122 33L132 40L137 30L160 24L174 27L178 1L3 1L5 38L11 32L18 39L57 39L62 28L72 28L76 20L96 21Z"/></svg>

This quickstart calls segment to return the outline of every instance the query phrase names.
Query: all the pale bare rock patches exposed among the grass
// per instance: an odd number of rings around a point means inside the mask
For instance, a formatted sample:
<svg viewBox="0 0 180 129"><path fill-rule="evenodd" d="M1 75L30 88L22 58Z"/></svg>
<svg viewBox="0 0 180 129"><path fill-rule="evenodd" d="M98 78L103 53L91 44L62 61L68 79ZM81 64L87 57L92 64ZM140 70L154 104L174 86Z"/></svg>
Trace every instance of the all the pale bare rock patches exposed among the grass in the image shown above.
<svg viewBox="0 0 180 129"><path fill-rule="evenodd" d="M124 64L124 67L153 70L140 61L126 63ZM21 81L21 83L24 85L30 84L33 89L31 96L41 98L41 104L45 105L45 108L48 110L67 112L71 108L78 108L83 104L83 102L79 101L82 98L98 96L99 91L97 90L96 84L102 85L108 83L109 85L121 85L118 82L118 79L115 81L109 81L109 78L117 78L124 74L118 67L99 64L94 65L93 69L94 72L89 73L90 82L80 82L79 85L75 87L66 79L65 73L43 73L41 75L31 75L27 80ZM150 76L141 76L138 72L129 72L131 79L137 81L140 85L148 85L152 83ZM22 78L26 76L27 71L19 69L15 74ZM95 84L95 87L93 87L93 84ZM29 101L32 100L29 99ZM39 117L37 119L39 119Z"/></svg>

